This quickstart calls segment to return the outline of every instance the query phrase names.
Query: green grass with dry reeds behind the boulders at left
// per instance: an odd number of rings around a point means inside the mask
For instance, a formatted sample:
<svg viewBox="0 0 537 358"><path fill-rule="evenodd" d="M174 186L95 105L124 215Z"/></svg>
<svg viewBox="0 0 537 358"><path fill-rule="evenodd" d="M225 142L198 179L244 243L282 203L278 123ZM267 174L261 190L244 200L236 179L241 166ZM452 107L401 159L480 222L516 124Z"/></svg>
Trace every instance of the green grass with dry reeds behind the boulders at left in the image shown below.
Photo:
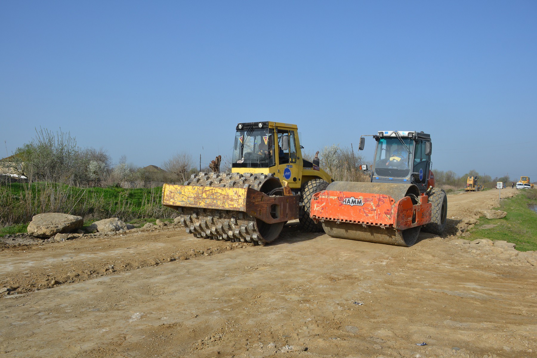
<svg viewBox="0 0 537 358"><path fill-rule="evenodd" d="M32 216L66 213L84 217L85 224L107 217L126 222L154 222L176 211L161 204L162 187L123 189L81 188L52 182L0 185L0 236L26 232Z"/></svg>

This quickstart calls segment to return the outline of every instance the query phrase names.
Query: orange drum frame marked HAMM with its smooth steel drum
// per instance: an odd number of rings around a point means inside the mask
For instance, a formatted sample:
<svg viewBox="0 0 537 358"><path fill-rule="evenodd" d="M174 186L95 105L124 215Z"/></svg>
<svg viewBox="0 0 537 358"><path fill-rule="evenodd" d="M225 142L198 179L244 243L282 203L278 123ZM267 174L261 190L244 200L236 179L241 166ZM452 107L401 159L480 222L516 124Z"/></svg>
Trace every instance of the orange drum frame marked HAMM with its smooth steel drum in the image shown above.
<svg viewBox="0 0 537 358"><path fill-rule="evenodd" d="M333 237L411 246L431 222L431 204L413 185L333 182L313 196L310 215Z"/></svg>

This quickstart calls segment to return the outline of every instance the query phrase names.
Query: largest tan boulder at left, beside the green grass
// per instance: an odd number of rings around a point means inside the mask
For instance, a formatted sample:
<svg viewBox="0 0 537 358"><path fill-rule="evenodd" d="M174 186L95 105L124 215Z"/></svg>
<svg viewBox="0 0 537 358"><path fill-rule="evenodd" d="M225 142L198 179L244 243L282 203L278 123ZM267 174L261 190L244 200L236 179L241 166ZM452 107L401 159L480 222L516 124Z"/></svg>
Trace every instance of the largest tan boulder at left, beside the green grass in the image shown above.
<svg viewBox="0 0 537 358"><path fill-rule="evenodd" d="M28 224L28 233L37 237L52 237L57 233L67 233L82 228L82 216L62 213L45 213L32 217Z"/></svg>

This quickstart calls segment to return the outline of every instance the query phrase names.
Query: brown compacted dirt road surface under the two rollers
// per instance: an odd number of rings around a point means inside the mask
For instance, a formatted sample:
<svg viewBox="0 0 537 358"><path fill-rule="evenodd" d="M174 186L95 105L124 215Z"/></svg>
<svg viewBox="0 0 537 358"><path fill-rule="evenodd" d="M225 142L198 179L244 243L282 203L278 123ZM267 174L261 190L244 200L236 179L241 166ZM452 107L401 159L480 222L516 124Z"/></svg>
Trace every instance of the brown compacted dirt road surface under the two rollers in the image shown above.
<svg viewBox="0 0 537 358"><path fill-rule="evenodd" d="M449 195L452 228L497 195ZM397 247L288 223L265 247L175 228L4 249L0 287L19 294L0 298L0 353L537 356L537 267L420 238Z"/></svg>

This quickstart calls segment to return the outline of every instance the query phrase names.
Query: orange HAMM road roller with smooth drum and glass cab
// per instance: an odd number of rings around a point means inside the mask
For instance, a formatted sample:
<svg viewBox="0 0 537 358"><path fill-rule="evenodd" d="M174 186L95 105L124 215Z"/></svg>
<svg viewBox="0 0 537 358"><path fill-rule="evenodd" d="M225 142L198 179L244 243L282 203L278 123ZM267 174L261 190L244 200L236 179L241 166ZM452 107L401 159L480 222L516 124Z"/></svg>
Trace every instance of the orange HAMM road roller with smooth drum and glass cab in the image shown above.
<svg viewBox="0 0 537 358"><path fill-rule="evenodd" d="M446 192L434 186L431 136L418 131L379 131L369 182L332 182L313 195L310 216L338 238L412 246L420 230L441 234ZM360 137L363 150L365 136Z"/></svg>

